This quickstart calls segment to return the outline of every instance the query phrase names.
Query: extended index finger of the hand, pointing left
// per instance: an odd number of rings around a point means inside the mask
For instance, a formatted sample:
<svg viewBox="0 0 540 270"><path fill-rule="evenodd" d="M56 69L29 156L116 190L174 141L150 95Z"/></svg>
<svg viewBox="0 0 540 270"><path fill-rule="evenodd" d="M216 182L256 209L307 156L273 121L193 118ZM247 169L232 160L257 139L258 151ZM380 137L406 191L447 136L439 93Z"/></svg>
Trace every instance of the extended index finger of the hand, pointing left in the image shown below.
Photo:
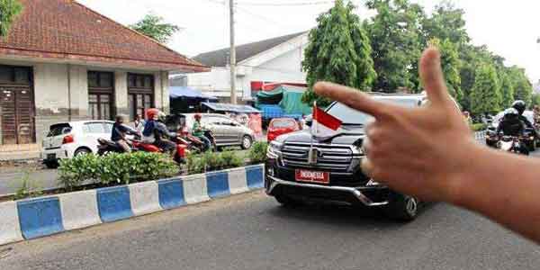
<svg viewBox="0 0 540 270"><path fill-rule="evenodd" d="M390 116L398 109L395 105L382 103L374 100L369 94L365 94L354 88L337 85L329 82L319 82L313 86L316 94L326 96L331 100L344 103L347 106L361 112L371 114L376 119Z"/></svg>

